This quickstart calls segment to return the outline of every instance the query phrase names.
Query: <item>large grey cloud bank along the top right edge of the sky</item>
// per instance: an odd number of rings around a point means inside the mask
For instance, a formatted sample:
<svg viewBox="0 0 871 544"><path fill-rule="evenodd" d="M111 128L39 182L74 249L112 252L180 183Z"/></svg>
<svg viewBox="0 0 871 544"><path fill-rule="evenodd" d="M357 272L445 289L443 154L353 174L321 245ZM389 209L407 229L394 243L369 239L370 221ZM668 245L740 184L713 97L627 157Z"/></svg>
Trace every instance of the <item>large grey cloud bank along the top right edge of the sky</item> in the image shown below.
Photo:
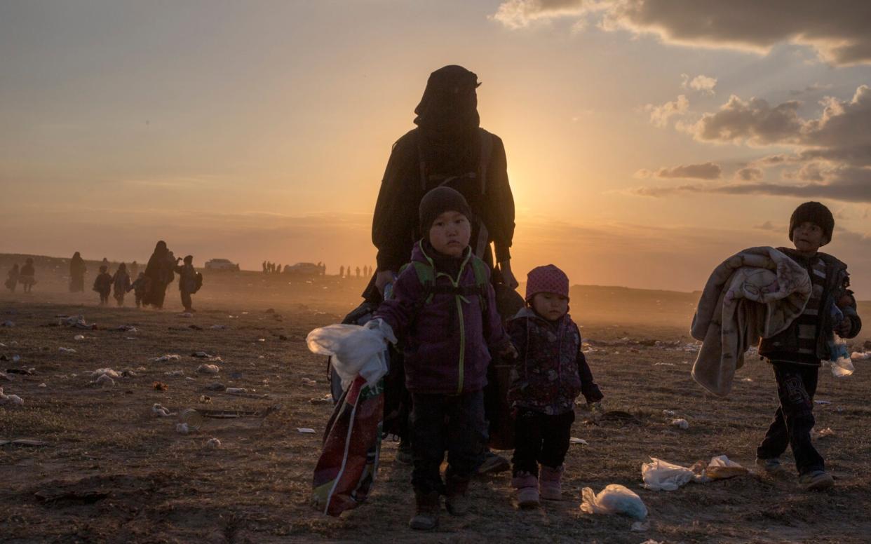
<svg viewBox="0 0 871 544"><path fill-rule="evenodd" d="M589 5L587 5L589 4ZM599 27L653 34L668 44L766 53L776 44L802 44L834 65L871 63L871 3L867 0L508 0L493 17L510 28L557 17L601 13Z"/></svg>

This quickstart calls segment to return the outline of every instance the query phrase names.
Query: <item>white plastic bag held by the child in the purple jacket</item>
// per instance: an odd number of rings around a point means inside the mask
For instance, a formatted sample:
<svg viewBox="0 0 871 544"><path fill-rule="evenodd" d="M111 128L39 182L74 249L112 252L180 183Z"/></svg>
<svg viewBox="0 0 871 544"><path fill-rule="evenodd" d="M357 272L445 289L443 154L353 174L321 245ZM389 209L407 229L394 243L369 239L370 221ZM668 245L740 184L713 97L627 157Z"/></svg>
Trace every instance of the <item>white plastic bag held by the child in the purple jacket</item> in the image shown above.
<svg viewBox="0 0 871 544"><path fill-rule="evenodd" d="M370 387L388 372L387 344L396 341L390 326L375 319L366 326L328 325L314 329L306 337L309 351L333 358L341 388L348 389L359 374Z"/></svg>

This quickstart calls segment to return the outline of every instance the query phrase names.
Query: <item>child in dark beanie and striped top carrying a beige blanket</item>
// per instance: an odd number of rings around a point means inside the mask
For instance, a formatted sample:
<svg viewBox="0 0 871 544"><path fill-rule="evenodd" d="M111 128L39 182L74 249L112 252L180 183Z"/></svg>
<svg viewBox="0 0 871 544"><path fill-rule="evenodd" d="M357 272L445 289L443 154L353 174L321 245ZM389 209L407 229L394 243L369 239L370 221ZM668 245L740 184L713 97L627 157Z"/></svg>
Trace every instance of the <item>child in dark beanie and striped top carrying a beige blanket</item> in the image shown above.
<svg viewBox="0 0 871 544"><path fill-rule="evenodd" d="M792 447L799 485L808 491L834 485L822 456L811 443L820 359L829 359L833 333L854 338L862 326L853 292L847 289L847 265L819 251L832 240L833 231L832 212L819 202L806 202L793 212L789 240L794 249L778 250L807 269L813 285L811 298L785 331L760 340L759 346L760 356L774 370L780 406L756 450L756 464L767 473L784 473L780 454Z"/></svg>

